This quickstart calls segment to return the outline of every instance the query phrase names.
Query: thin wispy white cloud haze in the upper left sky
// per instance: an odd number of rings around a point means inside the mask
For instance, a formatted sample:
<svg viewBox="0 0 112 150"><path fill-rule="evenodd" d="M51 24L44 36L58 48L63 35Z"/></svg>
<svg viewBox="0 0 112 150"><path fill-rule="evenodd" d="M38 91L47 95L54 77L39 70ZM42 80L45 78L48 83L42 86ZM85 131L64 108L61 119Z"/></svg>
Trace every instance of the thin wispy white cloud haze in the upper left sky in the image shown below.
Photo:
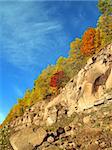
<svg viewBox="0 0 112 150"><path fill-rule="evenodd" d="M40 55L46 54L48 38L60 32L62 25L50 20L40 3L4 3L0 5L0 46L2 57L21 69L37 64ZM55 42L51 42L55 46ZM48 48L48 49L47 49Z"/></svg>

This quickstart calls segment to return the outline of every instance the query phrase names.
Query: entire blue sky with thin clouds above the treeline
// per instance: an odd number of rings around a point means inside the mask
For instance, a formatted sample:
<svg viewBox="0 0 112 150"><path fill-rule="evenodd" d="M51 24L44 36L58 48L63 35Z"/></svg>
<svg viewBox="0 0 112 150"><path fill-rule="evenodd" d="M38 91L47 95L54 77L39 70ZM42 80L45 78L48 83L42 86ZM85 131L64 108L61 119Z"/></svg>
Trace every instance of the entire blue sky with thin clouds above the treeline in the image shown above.
<svg viewBox="0 0 112 150"><path fill-rule="evenodd" d="M97 1L0 1L0 122L99 15Z"/></svg>

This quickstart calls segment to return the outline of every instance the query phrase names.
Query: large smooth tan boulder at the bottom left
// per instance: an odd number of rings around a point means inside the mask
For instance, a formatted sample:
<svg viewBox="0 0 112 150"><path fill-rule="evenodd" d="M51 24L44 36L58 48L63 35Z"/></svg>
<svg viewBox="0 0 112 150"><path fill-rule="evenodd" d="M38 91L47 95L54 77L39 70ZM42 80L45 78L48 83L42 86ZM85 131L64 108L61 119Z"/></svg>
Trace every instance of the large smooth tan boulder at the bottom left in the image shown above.
<svg viewBox="0 0 112 150"><path fill-rule="evenodd" d="M32 150L43 142L46 135L47 133L43 128L38 128L35 131L33 128L27 127L14 133L10 137L10 143L14 150Z"/></svg>

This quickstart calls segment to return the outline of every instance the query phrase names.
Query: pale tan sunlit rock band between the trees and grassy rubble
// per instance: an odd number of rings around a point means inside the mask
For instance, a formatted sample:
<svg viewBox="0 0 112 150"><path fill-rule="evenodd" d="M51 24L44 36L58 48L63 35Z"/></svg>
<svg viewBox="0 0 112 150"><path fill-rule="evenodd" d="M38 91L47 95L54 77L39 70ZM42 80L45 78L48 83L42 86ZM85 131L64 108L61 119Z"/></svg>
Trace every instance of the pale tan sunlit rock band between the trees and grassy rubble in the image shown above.
<svg viewBox="0 0 112 150"><path fill-rule="evenodd" d="M100 50L74 76L52 101L38 102L22 117L11 122L15 131L26 127L51 126L64 116L70 117L112 99L112 44Z"/></svg>

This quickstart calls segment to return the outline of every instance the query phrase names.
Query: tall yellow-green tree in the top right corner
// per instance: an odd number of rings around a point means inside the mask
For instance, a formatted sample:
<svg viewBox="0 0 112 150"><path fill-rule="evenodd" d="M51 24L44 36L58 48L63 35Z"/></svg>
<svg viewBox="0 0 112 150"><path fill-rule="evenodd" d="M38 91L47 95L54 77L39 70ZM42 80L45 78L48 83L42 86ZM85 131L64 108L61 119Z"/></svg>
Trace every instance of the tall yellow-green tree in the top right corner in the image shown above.
<svg viewBox="0 0 112 150"><path fill-rule="evenodd" d="M101 46L112 42L112 1L99 0L98 8L102 15L98 19L98 29L100 30Z"/></svg>

